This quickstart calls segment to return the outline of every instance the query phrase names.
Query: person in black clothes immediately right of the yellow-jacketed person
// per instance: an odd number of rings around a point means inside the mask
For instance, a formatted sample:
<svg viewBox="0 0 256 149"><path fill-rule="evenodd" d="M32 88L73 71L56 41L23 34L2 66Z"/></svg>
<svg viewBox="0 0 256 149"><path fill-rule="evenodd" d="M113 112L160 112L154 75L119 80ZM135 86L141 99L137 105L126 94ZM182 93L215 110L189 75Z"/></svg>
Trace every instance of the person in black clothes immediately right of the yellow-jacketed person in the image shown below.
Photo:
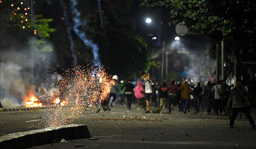
<svg viewBox="0 0 256 149"><path fill-rule="evenodd" d="M202 103L202 92L203 88L201 87L201 83L198 82L195 89L192 91L192 95L195 97L195 111L199 113L200 105Z"/></svg>

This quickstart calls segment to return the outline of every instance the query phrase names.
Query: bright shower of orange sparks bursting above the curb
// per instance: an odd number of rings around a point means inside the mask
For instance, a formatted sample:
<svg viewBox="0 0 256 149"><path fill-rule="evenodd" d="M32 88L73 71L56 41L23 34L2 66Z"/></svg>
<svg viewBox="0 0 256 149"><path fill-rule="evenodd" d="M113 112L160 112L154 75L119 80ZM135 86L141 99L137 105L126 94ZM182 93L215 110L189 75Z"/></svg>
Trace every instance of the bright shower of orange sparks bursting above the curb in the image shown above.
<svg viewBox="0 0 256 149"><path fill-rule="evenodd" d="M65 125L79 119L86 109L96 107L108 99L111 90L111 82L105 69L102 66L94 68L93 65L68 69L62 80L53 86L58 88L58 92L48 100L59 96L60 102L66 104L54 104L52 110L47 111L47 116L43 117L44 120L36 125L38 127Z"/></svg>

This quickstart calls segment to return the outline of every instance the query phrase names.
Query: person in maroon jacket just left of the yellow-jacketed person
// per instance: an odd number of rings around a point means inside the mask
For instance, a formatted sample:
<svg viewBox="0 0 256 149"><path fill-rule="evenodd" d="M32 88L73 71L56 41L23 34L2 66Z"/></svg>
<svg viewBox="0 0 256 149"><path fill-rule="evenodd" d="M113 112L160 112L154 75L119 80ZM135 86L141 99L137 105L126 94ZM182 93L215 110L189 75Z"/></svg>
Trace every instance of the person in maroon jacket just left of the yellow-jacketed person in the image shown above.
<svg viewBox="0 0 256 149"><path fill-rule="evenodd" d="M177 100L177 91L179 90L179 87L175 84L174 79L170 80L170 83L167 86L168 89L168 110L170 113L172 113L172 103L174 103ZM181 111L182 106L180 106L180 101L177 101L179 106L179 111Z"/></svg>

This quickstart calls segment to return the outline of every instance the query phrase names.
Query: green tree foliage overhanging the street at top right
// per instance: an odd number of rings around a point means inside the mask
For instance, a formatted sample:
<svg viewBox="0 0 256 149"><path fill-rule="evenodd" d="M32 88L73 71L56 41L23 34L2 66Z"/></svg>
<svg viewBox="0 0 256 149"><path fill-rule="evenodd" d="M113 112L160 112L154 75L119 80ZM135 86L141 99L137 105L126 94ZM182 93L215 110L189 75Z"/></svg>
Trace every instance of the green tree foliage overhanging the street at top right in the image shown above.
<svg viewBox="0 0 256 149"><path fill-rule="evenodd" d="M253 27L248 24L250 13L255 14L253 1L242 0L143 0L142 6L166 7L170 11L170 19L184 21L192 31L202 34L220 32L223 36L231 34L234 29L252 34ZM243 11L239 9L242 8ZM235 17L237 11L239 17ZM244 18L241 16L244 15ZM241 20L240 20L241 19ZM250 18L252 19L252 18ZM254 22L255 24L255 22Z"/></svg>

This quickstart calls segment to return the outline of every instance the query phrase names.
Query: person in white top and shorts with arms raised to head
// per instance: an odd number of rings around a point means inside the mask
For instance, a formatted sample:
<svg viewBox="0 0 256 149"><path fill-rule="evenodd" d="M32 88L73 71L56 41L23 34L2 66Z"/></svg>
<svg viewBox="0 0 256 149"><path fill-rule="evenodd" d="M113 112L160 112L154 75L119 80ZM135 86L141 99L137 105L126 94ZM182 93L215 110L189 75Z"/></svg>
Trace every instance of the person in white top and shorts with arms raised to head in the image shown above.
<svg viewBox="0 0 256 149"><path fill-rule="evenodd" d="M146 100L146 105L147 105L147 109L145 111L145 113L149 113L149 110L150 110L150 104L149 104L149 99L152 95L152 86L151 86L151 83L152 81L150 80L150 74L147 73L147 74L144 74L142 77L141 77L143 80L145 80L145 100Z"/></svg>

